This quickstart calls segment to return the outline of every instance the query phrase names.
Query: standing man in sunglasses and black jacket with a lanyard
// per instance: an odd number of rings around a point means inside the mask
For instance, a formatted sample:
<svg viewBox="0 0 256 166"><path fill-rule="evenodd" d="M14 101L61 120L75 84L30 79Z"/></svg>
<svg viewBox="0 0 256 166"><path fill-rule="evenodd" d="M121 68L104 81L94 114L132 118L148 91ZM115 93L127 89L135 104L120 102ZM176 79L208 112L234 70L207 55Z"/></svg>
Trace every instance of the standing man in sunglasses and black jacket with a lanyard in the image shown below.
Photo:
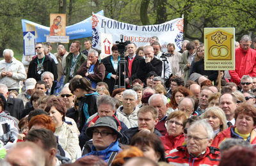
<svg viewBox="0 0 256 166"><path fill-rule="evenodd" d="M37 56L29 63L28 78L34 78L38 81L41 80L42 73L51 72L54 75L54 80L57 80L58 74L56 63L51 57L45 56L42 43L37 43L35 50Z"/></svg>

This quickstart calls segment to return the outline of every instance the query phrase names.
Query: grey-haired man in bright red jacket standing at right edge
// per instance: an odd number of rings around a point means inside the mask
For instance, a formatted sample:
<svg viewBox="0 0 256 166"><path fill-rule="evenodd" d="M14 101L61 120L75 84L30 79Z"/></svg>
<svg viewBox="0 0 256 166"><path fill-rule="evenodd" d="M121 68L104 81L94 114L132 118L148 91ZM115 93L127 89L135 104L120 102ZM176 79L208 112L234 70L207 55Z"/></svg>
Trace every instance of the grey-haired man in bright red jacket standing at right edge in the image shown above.
<svg viewBox="0 0 256 166"><path fill-rule="evenodd" d="M243 75L256 76L256 50L250 48L252 39L244 35L240 41L240 48L236 49L236 70L230 70L231 82L240 84Z"/></svg>

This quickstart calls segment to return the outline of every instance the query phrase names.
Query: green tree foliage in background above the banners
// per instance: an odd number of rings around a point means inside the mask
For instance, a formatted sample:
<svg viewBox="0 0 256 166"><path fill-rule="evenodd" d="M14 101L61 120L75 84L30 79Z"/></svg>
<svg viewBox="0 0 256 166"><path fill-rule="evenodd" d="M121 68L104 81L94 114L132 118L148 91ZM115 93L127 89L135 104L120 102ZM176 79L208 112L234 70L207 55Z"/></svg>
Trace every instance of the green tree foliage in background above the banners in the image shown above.
<svg viewBox="0 0 256 166"><path fill-rule="evenodd" d="M256 36L254 0L64 0L67 26L80 22L92 12L130 24L160 24L184 15L184 36L203 41L204 27L236 27L236 40L252 32ZM147 3L143 3L147 2ZM147 5L147 6L141 6ZM49 14L58 13L60 0L1 0L0 55L10 48L22 54L21 19L49 26ZM55 49L55 48L54 48Z"/></svg>

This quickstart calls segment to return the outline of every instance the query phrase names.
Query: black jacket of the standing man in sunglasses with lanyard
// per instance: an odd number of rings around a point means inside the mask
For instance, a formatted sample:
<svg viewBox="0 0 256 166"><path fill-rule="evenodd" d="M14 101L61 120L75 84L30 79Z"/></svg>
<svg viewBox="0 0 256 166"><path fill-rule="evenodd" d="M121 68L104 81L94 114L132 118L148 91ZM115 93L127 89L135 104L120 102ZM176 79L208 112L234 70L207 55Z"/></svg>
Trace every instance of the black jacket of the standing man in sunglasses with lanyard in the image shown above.
<svg viewBox="0 0 256 166"><path fill-rule="evenodd" d="M33 59L28 66L28 79L29 78L34 78L36 80L41 80L41 75L44 72L51 72L54 75L54 80L58 79L58 72L57 72L57 66L54 60L49 57L45 56L44 63L43 63L43 68L44 71L38 74L36 68L37 68L37 59L38 57L36 56L35 59Z"/></svg>

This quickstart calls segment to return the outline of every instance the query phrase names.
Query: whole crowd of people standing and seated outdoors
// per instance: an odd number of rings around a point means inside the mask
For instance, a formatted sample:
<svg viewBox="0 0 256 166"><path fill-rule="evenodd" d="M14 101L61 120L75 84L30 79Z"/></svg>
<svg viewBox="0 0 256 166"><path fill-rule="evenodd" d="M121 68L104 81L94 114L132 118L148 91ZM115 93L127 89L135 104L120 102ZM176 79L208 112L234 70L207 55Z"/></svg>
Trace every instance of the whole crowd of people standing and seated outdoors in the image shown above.
<svg viewBox="0 0 256 166"><path fill-rule="evenodd" d="M256 40L253 41L256 44ZM256 50L236 45L236 70L204 70L204 43L70 52L36 43L0 61L0 165L256 165ZM166 59L165 59L166 58ZM121 81L120 81L121 80ZM221 84L219 89L218 82Z"/></svg>

